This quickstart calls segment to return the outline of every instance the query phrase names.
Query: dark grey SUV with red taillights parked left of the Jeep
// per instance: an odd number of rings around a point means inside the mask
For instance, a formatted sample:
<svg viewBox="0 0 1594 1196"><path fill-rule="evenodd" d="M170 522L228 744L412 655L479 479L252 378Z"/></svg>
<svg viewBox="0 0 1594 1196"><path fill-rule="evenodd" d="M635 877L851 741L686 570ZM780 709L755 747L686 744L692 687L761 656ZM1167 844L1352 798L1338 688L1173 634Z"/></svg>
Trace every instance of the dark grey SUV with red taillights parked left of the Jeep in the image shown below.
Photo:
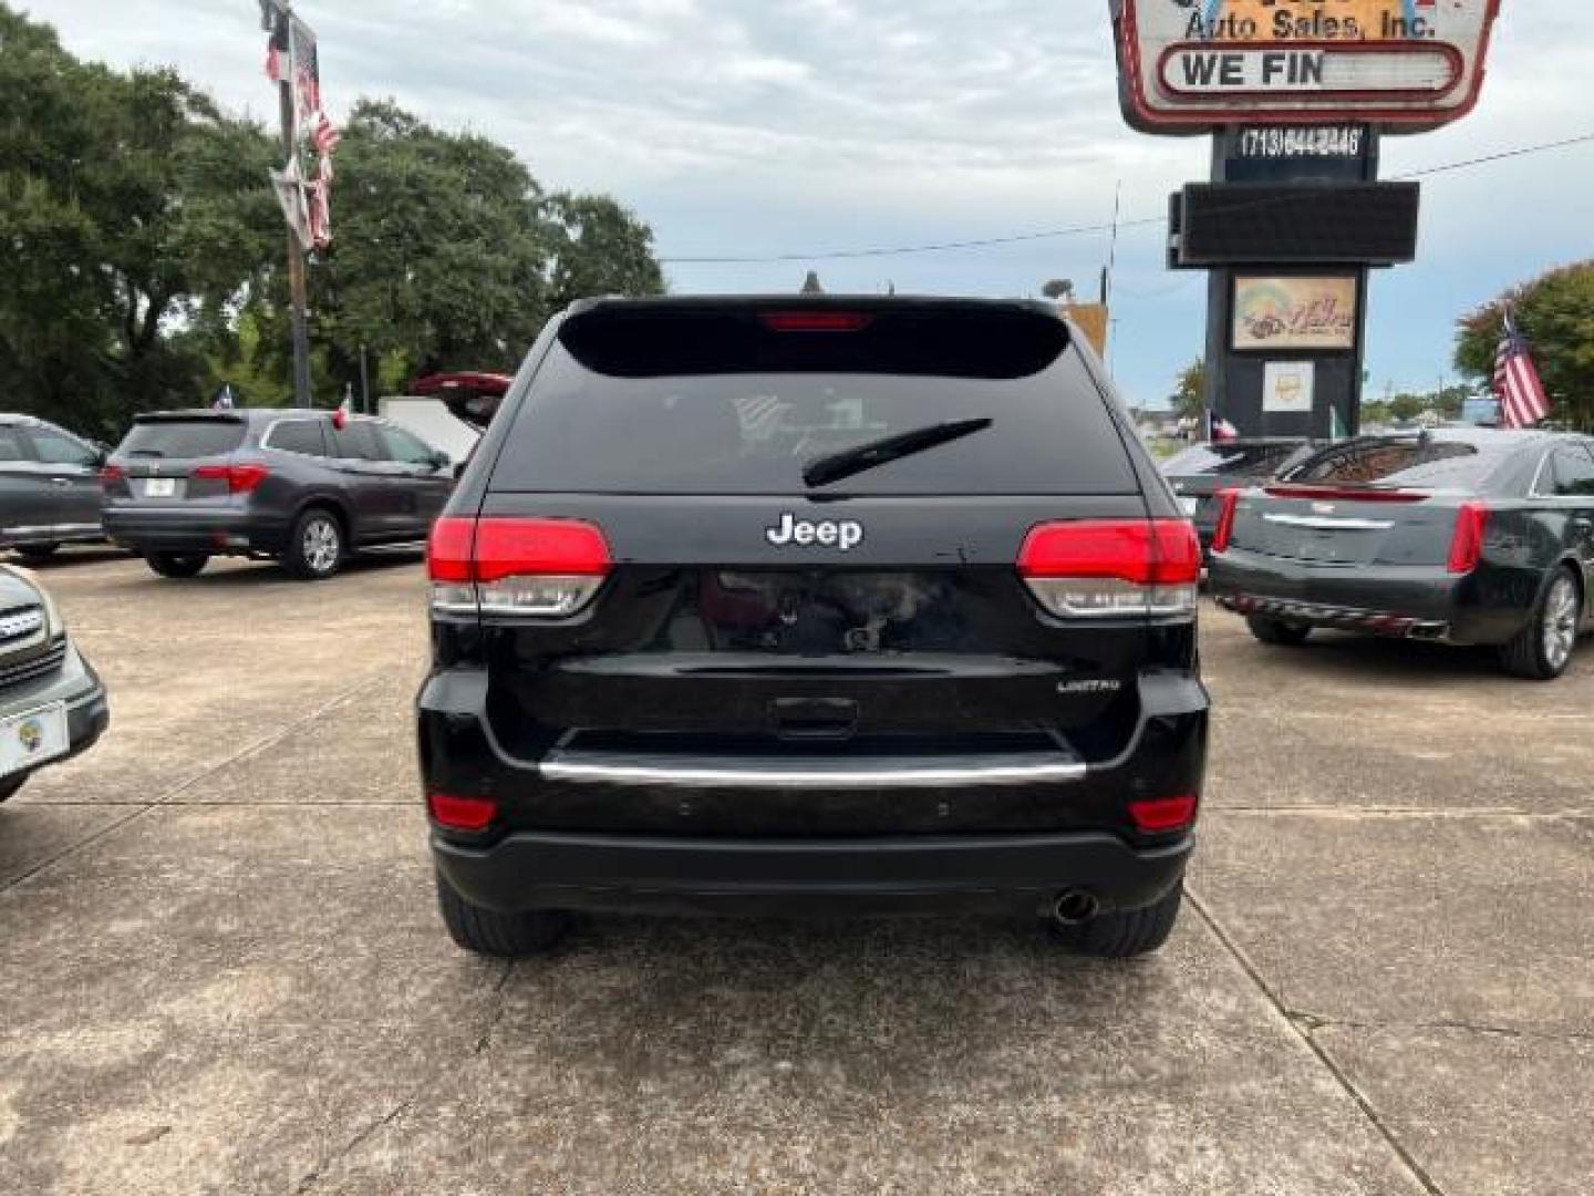
<svg viewBox="0 0 1594 1196"><path fill-rule="evenodd" d="M140 415L102 480L105 533L164 577L230 555L322 580L424 544L454 490L448 454L405 429L304 410Z"/></svg>

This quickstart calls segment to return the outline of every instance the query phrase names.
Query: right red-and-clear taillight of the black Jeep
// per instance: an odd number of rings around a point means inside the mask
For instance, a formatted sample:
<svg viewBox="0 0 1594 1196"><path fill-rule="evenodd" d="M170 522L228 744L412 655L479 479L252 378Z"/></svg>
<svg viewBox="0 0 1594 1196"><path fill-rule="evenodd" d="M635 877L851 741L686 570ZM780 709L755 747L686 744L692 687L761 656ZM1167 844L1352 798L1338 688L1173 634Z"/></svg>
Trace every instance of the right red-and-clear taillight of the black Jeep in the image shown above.
<svg viewBox="0 0 1594 1196"><path fill-rule="evenodd" d="M1200 541L1188 520L1042 523L1019 552L1019 574L1065 619L1194 616Z"/></svg>

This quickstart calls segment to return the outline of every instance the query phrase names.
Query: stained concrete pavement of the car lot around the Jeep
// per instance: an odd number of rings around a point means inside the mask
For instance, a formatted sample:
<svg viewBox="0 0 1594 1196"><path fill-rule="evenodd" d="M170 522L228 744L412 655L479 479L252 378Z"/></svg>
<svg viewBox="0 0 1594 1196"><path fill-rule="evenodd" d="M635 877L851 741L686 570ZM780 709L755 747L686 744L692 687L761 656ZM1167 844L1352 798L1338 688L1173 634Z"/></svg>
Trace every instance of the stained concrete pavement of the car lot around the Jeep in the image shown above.
<svg viewBox="0 0 1594 1196"><path fill-rule="evenodd" d="M1162 955L982 922L432 907L413 563L45 571L113 729L0 808L0 1191L1578 1193L1594 1174L1594 646L1205 616Z"/></svg>

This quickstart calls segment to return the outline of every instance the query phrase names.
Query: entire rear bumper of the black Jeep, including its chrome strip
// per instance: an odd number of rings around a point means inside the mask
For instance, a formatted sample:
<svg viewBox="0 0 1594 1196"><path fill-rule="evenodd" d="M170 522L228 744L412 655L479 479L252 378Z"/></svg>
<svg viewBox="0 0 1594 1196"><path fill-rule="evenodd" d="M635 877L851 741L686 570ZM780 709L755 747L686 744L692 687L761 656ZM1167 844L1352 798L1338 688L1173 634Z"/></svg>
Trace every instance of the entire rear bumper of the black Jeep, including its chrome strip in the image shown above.
<svg viewBox="0 0 1594 1196"><path fill-rule="evenodd" d="M1035 912L1066 888L1146 906L1183 875L1188 834L1138 836L1129 802L1200 793L1207 692L1141 678L1125 749L902 759L513 759L488 676L435 673L419 697L427 791L493 796L502 828L435 831L448 882L491 909ZM843 749L845 751L845 749Z"/></svg>

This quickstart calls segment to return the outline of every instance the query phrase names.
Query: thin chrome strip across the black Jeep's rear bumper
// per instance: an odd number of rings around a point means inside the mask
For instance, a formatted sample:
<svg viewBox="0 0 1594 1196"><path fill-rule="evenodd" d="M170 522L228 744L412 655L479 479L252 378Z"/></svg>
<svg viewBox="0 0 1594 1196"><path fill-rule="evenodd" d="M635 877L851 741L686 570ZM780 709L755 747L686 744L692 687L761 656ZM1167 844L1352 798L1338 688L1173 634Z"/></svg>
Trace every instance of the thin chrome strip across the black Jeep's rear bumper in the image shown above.
<svg viewBox="0 0 1594 1196"><path fill-rule="evenodd" d="M544 780L591 785L674 785L695 789L781 788L781 789L912 789L925 785L1039 785L1081 781L1089 765L1079 761L1047 764L902 765L859 769L791 767L778 761L748 761L744 765L650 762L638 757L580 762L550 759L539 765Z"/></svg>

